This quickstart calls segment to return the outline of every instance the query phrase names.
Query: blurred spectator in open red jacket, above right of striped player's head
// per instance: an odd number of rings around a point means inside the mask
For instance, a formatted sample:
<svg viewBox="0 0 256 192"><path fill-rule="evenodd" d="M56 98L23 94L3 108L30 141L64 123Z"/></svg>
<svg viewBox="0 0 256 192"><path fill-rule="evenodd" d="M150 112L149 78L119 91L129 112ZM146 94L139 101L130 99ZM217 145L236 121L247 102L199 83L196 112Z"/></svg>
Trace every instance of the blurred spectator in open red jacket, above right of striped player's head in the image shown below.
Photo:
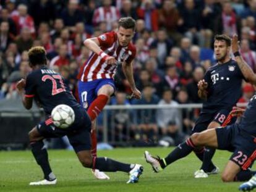
<svg viewBox="0 0 256 192"><path fill-rule="evenodd" d="M139 19L145 21L147 30L158 30L158 10L154 7L152 0L142 1L141 6L137 9Z"/></svg>

